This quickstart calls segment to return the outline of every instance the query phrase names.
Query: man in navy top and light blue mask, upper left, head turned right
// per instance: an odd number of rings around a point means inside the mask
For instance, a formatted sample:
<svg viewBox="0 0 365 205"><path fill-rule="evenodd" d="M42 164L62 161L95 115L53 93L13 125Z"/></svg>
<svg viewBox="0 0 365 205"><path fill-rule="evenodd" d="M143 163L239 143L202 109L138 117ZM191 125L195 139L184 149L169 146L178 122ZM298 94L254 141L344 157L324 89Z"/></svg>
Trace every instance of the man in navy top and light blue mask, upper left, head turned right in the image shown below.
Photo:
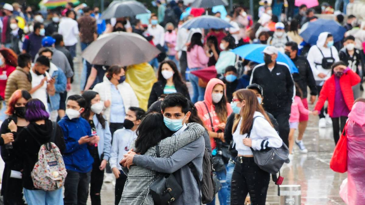
<svg viewBox="0 0 365 205"><path fill-rule="evenodd" d="M32 56L32 61L35 59L39 49L42 47L42 39L45 35L43 23L35 22L34 31L24 37L22 53L28 53Z"/></svg>

